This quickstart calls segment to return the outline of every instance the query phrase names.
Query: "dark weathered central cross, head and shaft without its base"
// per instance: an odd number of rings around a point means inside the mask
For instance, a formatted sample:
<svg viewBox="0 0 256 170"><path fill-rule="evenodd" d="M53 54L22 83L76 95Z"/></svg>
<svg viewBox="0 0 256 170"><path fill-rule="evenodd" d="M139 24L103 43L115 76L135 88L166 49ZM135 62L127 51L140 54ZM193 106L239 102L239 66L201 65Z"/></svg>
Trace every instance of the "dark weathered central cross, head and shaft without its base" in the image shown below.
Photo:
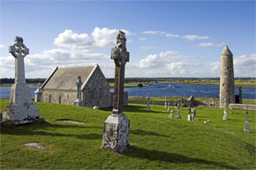
<svg viewBox="0 0 256 170"><path fill-rule="evenodd" d="M117 35L116 47L111 49L111 59L116 64L113 114L118 115L124 111L124 67L129 62L125 33L121 30Z"/></svg>

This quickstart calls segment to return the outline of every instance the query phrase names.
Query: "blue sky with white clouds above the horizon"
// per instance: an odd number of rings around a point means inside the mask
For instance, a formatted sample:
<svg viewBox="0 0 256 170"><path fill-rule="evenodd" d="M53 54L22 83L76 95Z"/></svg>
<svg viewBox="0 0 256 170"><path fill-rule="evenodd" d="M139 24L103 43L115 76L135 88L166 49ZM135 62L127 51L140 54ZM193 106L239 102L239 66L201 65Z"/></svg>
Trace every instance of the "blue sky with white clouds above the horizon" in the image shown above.
<svg viewBox="0 0 256 170"><path fill-rule="evenodd" d="M0 78L14 78L14 37L29 48L26 78L58 67L110 59L118 30L126 34L125 78L219 78L225 45L235 78L256 78L255 1L0 1Z"/></svg>

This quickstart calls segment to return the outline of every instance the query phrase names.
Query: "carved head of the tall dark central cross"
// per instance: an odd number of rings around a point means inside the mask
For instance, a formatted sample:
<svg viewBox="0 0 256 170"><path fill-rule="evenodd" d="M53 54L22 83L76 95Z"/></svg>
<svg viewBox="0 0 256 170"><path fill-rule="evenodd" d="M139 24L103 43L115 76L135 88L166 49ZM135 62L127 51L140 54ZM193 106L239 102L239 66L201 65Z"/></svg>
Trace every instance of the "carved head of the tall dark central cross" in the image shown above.
<svg viewBox="0 0 256 170"><path fill-rule="evenodd" d="M117 45L111 50L111 59L114 59L117 66L125 65L129 62L129 52L126 50L125 33L119 30L117 35Z"/></svg>

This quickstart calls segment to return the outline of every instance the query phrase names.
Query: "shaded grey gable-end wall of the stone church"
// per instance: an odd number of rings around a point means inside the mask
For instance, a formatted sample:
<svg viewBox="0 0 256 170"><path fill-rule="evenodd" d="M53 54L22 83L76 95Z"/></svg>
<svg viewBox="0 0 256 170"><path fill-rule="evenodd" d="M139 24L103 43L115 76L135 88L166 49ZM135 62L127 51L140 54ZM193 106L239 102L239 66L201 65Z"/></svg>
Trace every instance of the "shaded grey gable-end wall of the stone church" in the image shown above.
<svg viewBox="0 0 256 170"><path fill-rule="evenodd" d="M107 79L102 70L97 67L83 89L83 104L85 107L110 107L111 94Z"/></svg>

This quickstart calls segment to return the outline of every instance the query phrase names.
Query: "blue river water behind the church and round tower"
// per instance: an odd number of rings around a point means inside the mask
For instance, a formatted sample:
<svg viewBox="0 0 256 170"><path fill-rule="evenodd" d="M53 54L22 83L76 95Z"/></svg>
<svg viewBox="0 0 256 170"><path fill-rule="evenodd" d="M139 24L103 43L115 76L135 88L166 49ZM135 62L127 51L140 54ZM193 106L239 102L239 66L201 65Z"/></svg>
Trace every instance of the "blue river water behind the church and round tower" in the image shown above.
<svg viewBox="0 0 256 170"><path fill-rule="evenodd" d="M169 86L171 85L171 86ZM29 86L32 97L36 86ZM11 87L0 87L0 98L9 99ZM129 92L129 96L150 96L150 97L202 97L202 98L219 98L220 87L218 85L180 85L177 83L152 84L145 87L124 88ZM256 87L242 87L243 99L256 99ZM238 94L238 87L236 87Z"/></svg>

